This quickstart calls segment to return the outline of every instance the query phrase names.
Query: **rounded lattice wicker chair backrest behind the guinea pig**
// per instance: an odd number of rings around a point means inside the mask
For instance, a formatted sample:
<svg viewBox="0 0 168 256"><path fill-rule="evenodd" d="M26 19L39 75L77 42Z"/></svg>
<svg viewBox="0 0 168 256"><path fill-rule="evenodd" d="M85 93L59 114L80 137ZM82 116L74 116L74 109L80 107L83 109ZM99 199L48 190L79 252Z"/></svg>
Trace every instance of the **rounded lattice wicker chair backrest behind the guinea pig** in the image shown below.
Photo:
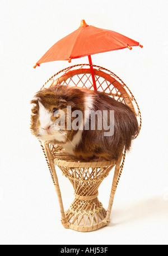
<svg viewBox="0 0 168 256"><path fill-rule="evenodd" d="M100 66L92 65L94 68L95 80L97 91L105 92L110 97L115 100L120 101L130 107L137 117L139 123L139 131L141 129L141 112L130 89L117 75L108 69L102 68ZM94 90L92 84L90 65L78 64L66 69L60 70L58 73L53 75L45 84L52 81L53 85L67 85L67 86L77 86L87 89ZM44 87L43 86L43 87ZM42 87L42 88L43 88ZM41 88L41 89L42 89ZM138 136L138 134L137 134ZM136 137L137 137L136 136ZM136 138L135 137L135 138Z"/></svg>

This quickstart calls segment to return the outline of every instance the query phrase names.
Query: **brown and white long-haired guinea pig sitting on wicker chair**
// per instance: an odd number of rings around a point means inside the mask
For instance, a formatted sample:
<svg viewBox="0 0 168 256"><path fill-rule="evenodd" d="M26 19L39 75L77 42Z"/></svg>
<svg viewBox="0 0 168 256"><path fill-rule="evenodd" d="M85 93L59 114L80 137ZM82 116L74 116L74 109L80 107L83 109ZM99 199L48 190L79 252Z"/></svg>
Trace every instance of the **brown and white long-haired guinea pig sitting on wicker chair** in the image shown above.
<svg viewBox="0 0 168 256"><path fill-rule="evenodd" d="M117 160L138 133L130 107L104 92L52 86L37 92L31 104L31 133L79 159Z"/></svg>

